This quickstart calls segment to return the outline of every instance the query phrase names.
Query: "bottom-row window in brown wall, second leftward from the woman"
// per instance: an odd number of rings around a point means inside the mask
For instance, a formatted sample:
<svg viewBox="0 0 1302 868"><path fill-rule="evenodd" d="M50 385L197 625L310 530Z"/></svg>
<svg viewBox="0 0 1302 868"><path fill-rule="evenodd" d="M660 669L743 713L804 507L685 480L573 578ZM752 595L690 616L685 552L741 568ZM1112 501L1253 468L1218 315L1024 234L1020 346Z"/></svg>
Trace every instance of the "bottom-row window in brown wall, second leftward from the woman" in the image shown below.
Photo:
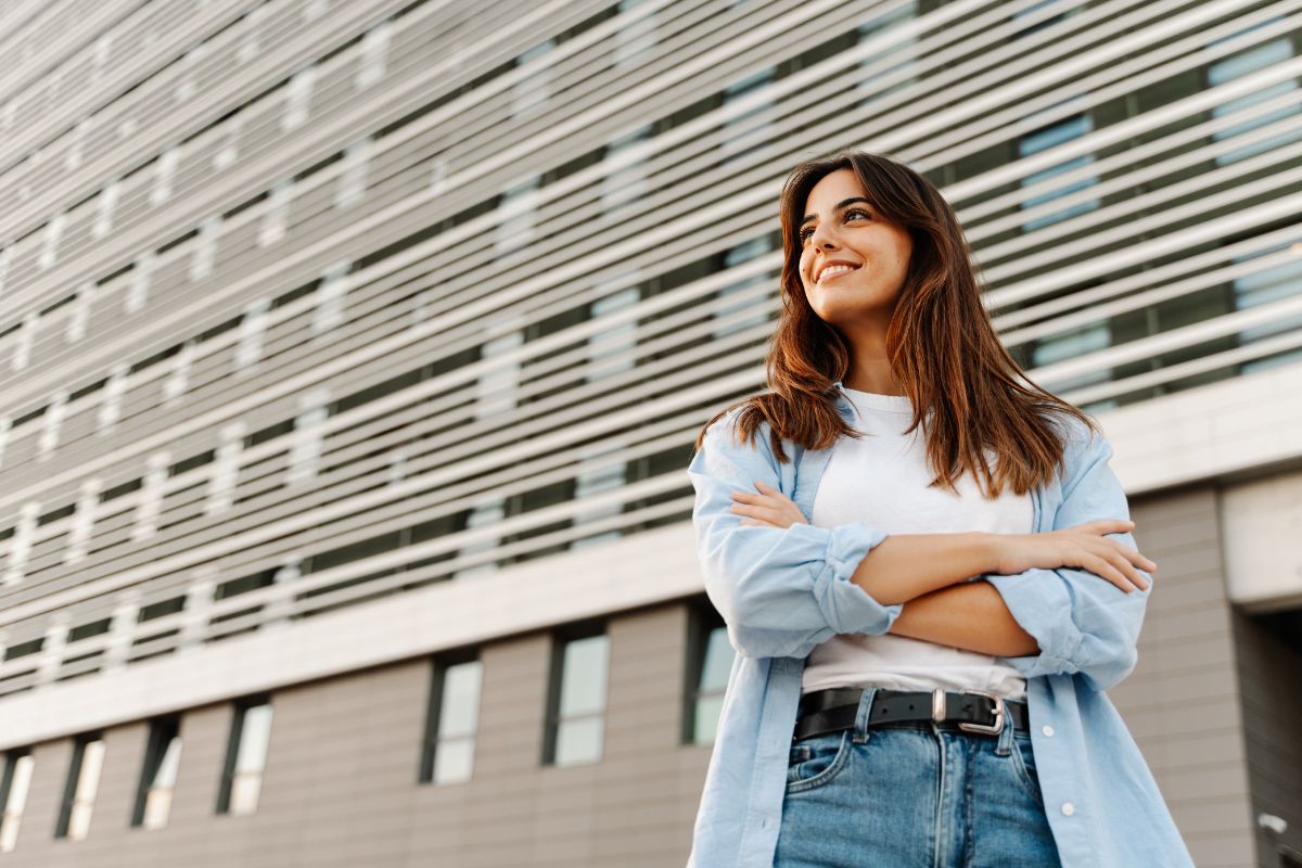
<svg viewBox="0 0 1302 868"><path fill-rule="evenodd" d="M602 759L608 648L604 632L557 638L544 765L579 765Z"/></svg>

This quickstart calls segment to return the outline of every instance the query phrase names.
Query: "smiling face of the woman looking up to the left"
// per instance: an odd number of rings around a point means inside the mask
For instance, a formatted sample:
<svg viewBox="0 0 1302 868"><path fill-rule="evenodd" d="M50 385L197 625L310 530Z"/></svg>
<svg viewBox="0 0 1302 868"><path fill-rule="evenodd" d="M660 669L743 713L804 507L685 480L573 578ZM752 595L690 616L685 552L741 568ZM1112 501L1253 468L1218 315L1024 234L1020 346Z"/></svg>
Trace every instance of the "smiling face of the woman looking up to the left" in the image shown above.
<svg viewBox="0 0 1302 868"><path fill-rule="evenodd" d="M819 319L848 332L884 331L913 251L909 232L866 197L859 176L837 169L814 185L801 215L805 297Z"/></svg>

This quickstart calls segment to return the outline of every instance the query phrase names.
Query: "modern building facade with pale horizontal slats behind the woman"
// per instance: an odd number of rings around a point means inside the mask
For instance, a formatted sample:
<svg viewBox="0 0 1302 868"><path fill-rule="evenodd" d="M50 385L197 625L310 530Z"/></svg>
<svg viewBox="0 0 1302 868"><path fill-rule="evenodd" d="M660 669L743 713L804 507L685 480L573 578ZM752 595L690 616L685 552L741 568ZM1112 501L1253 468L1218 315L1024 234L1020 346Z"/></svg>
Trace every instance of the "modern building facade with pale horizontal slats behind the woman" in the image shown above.
<svg viewBox="0 0 1302 868"><path fill-rule="evenodd" d="M684 471L844 146L1115 446L1198 865L1302 864L1299 7L4 4L0 865L681 865Z"/></svg>

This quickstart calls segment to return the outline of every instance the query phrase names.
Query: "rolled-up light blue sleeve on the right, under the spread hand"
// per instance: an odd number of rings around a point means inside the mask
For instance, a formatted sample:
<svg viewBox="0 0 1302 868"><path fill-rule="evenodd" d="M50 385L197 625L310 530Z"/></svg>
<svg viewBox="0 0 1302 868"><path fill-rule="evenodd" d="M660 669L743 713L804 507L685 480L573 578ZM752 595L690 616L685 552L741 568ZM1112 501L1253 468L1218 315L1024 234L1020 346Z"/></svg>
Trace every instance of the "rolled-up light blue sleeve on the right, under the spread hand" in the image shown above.
<svg viewBox="0 0 1302 868"><path fill-rule="evenodd" d="M1130 518L1121 483L1108 465L1112 446L1103 437L1090 437L1081 446L1083 461L1064 483L1062 505L1053 530L1104 518ZM1128 548L1137 548L1129 532L1108 534ZM1138 569L1138 567L1137 567ZM1013 618L1040 645L1038 655L1000 657L1027 678L1077 674L1095 691L1118 683L1138 661L1135 643L1143 625L1152 576L1143 591L1125 592L1083 569L1032 569L1016 575L986 575Z"/></svg>

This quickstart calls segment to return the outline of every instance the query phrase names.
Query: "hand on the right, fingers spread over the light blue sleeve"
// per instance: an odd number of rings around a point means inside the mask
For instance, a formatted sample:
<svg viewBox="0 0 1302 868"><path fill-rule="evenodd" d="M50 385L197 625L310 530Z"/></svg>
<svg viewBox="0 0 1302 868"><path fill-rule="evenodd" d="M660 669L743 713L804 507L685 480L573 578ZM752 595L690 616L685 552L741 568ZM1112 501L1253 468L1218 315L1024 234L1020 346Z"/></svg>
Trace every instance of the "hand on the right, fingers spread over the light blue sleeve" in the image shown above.
<svg viewBox="0 0 1302 868"><path fill-rule="evenodd" d="M1104 534L1133 530L1129 519L1104 518L1044 534L995 534L999 562L995 573L1014 575L1030 569L1081 567L1112 582L1126 593L1146 590L1148 583L1135 566L1154 573L1157 565L1139 552L1107 539Z"/></svg>

